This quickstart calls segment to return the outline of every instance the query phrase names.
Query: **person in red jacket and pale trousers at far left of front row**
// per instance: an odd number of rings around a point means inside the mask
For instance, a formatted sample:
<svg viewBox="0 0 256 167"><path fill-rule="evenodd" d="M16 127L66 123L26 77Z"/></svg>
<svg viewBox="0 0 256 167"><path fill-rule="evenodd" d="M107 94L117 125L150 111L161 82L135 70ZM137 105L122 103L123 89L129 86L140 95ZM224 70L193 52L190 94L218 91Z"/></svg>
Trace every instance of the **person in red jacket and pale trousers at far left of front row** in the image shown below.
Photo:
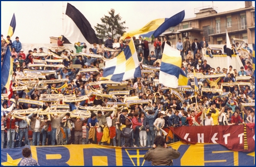
<svg viewBox="0 0 256 167"><path fill-rule="evenodd" d="M7 148L14 148L14 138L15 138L15 122L20 122L22 119L12 119L11 113L8 113L8 117L6 114L3 115L4 120L6 120L7 127ZM11 143L10 143L11 142Z"/></svg>

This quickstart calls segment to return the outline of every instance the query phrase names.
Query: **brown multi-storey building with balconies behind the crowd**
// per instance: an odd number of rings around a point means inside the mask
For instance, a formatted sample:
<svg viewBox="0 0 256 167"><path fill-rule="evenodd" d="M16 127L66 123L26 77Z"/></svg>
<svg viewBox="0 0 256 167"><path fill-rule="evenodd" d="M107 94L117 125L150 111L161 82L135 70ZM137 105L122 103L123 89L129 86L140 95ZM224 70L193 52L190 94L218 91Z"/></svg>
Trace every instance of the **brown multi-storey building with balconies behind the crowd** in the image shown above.
<svg viewBox="0 0 256 167"><path fill-rule="evenodd" d="M245 1L245 7L227 12L216 12L216 7L196 8L196 17L184 19L178 26L170 27L160 35L167 37L172 45L181 38L189 37L190 43L194 38L198 42L205 36L209 44L224 44L226 42L226 29L229 39L245 39L249 44L255 42L255 8L252 1ZM231 41L230 41L231 42Z"/></svg>

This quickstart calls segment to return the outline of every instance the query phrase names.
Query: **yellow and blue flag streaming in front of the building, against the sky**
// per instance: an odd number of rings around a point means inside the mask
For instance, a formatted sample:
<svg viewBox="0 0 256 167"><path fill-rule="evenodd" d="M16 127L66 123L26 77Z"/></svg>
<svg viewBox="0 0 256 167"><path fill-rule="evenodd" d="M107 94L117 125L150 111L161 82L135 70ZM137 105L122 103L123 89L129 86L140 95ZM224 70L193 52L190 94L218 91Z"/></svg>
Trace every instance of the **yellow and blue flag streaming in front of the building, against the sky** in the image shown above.
<svg viewBox="0 0 256 167"><path fill-rule="evenodd" d="M181 11L170 18L152 20L140 29L124 33L120 39L132 38L133 36L138 38L141 36L143 39L151 40L152 38L158 37L169 27L173 27L181 23L184 17L185 11Z"/></svg>

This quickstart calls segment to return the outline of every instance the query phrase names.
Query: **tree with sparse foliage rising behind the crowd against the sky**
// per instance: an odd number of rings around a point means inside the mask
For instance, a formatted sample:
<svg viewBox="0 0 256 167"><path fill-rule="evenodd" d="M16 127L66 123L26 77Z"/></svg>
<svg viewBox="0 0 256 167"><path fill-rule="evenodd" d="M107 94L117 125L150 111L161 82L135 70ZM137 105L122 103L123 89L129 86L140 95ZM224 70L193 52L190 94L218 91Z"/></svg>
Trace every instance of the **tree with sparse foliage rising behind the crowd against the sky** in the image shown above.
<svg viewBox="0 0 256 167"><path fill-rule="evenodd" d="M107 39L108 35L112 38L116 36L122 36L128 27L124 27L125 21L121 22L122 17L120 14L115 15L115 9L109 11L110 16L105 16L101 18L101 24L97 23L95 30L97 32L96 36L100 39Z"/></svg>

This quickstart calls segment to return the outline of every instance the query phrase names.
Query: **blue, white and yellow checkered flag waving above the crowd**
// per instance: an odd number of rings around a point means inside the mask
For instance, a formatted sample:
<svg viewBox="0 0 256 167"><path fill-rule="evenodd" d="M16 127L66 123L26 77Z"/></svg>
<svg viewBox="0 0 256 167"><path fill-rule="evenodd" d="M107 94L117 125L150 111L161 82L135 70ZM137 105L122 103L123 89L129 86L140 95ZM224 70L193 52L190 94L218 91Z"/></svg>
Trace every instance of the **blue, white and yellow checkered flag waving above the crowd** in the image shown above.
<svg viewBox="0 0 256 167"><path fill-rule="evenodd" d="M140 64L133 39L117 57L107 60L105 64L101 80L109 79L121 82L126 79L141 77Z"/></svg>

